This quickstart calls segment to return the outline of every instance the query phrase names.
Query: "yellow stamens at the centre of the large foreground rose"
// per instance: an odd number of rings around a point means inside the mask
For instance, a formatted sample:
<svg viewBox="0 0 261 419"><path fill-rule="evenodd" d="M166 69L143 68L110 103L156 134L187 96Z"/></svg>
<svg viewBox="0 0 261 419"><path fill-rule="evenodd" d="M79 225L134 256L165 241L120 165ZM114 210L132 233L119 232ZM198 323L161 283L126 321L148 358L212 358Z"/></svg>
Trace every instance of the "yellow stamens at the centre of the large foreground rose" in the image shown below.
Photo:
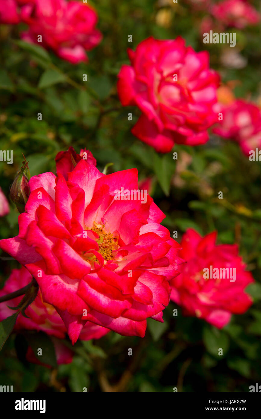
<svg viewBox="0 0 261 419"><path fill-rule="evenodd" d="M98 252L101 254L103 259L110 261L113 259L112 253L119 248L118 238L114 237L111 233L106 233L104 230L104 224L97 224L95 221L93 224L94 227L91 228L91 230L99 236L96 239L99 246Z"/></svg>

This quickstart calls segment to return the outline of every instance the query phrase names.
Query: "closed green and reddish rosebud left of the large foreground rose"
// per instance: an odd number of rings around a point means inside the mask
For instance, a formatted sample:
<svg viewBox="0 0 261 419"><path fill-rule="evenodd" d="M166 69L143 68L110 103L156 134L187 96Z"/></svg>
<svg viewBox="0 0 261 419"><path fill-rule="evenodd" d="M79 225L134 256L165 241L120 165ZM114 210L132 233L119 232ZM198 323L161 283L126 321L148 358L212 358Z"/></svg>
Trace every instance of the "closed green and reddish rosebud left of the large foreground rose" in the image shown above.
<svg viewBox="0 0 261 419"><path fill-rule="evenodd" d="M26 163L26 161L23 161L24 166L21 167L21 170L17 173L10 188L10 198L20 213L24 212L24 207L30 194L28 181L31 176L27 164L28 162Z"/></svg>

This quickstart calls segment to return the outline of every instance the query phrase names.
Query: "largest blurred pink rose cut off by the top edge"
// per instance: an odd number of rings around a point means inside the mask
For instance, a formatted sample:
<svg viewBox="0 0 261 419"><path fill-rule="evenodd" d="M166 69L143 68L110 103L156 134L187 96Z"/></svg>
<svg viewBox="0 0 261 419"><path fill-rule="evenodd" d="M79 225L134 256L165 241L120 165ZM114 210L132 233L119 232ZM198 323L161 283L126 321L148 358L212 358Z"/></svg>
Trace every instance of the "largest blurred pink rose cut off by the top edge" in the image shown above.
<svg viewBox="0 0 261 419"><path fill-rule="evenodd" d="M56 54L77 64L87 61L86 51L96 47L102 39L96 29L96 11L85 3L65 0L35 0L35 5L21 9L22 20L29 25L22 37L28 42L53 49Z"/></svg>

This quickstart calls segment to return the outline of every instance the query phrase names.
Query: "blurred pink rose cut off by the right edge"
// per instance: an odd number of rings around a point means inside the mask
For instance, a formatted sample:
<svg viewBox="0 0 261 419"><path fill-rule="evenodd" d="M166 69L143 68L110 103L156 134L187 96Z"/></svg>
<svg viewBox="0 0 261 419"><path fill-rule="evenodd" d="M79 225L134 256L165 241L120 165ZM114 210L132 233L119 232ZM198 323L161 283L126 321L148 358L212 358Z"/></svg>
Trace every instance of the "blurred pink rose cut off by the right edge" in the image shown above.
<svg viewBox="0 0 261 419"><path fill-rule="evenodd" d="M213 128L215 134L238 142L246 155L261 147L261 111L258 106L238 99L218 107L223 120Z"/></svg>

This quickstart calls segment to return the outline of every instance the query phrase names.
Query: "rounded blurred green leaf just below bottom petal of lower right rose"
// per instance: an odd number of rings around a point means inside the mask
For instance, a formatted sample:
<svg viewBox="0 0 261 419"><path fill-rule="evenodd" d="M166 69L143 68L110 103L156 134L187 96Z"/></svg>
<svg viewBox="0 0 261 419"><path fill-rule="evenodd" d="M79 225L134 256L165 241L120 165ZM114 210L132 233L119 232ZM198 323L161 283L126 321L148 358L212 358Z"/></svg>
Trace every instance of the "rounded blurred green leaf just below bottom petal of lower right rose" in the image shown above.
<svg viewBox="0 0 261 419"><path fill-rule="evenodd" d="M229 348L229 338L225 332L217 328L209 328L208 326L203 329L203 341L206 349L215 358L222 358L219 355L219 349L223 350L223 356L227 353Z"/></svg>

